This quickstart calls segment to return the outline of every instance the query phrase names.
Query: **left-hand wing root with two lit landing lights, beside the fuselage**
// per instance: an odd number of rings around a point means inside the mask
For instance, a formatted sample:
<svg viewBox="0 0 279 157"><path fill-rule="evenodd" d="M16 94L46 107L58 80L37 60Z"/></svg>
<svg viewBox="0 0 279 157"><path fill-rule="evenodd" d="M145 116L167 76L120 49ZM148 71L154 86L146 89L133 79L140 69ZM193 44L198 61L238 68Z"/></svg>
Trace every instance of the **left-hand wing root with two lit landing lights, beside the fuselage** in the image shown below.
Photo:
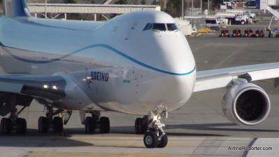
<svg viewBox="0 0 279 157"><path fill-rule="evenodd" d="M66 96L66 80L59 75L0 75L0 92L59 100Z"/></svg>

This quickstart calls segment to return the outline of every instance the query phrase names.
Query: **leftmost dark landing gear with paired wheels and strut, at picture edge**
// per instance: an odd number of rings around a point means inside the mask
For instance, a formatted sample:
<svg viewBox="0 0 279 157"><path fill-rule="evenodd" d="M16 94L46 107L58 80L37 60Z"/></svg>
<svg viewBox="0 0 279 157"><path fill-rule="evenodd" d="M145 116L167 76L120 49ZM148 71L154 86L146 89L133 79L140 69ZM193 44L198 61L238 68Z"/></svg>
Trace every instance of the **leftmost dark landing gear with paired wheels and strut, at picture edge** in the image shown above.
<svg viewBox="0 0 279 157"><path fill-rule="evenodd" d="M15 130L17 134L26 134L27 133L27 121L22 118L18 118L18 115L25 109L26 106L17 112L16 108L16 94L13 94L9 97L7 101L11 105L10 117L2 118L0 131L4 134L12 133L12 130Z"/></svg>

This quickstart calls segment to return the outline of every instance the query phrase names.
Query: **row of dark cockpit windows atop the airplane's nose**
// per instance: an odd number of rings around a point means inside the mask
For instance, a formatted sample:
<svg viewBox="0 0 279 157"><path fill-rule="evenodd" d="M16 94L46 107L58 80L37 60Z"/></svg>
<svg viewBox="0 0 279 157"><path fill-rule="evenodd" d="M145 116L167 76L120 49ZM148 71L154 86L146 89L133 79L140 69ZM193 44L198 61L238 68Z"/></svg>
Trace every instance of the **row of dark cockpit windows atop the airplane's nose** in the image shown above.
<svg viewBox="0 0 279 157"><path fill-rule="evenodd" d="M145 25L143 31L151 29L154 31L176 31L178 27L174 23L148 23Z"/></svg>

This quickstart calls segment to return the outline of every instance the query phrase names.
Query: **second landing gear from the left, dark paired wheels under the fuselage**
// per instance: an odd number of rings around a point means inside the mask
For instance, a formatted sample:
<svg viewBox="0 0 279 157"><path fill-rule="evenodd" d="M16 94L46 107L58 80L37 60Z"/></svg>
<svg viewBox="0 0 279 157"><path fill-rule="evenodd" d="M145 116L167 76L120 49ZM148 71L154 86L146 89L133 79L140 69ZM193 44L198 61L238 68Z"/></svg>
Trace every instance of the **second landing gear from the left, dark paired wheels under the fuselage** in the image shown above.
<svg viewBox="0 0 279 157"><path fill-rule="evenodd" d="M52 128L54 133L61 133L63 131L63 119L62 117L54 117L56 114L62 113L64 110L53 110L52 106L47 106L46 117L40 117L38 119L38 131L40 133L47 133ZM68 113L72 113L71 111Z"/></svg>

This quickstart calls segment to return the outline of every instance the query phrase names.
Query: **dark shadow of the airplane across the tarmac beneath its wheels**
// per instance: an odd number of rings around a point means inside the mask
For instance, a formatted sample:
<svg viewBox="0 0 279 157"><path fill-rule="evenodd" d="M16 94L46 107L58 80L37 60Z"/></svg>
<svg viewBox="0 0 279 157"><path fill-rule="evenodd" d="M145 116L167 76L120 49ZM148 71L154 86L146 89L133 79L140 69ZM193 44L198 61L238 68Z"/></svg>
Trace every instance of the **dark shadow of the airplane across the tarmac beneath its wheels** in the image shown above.
<svg viewBox="0 0 279 157"><path fill-rule="evenodd" d="M278 130L266 129L245 129L245 128L228 128L237 126L232 123L223 124L183 124L183 125L167 125L165 128L167 135L171 136L185 136L185 137L228 137L229 135L220 135L218 133L171 133L170 129L190 129L190 130L213 130L213 131L238 131L238 132L278 132ZM224 128L226 127L226 128ZM142 137L136 135L134 126L112 126L110 134L104 135L96 130L96 133L85 133L84 128L65 128L63 133L53 133L49 130L48 133L38 133L37 129L28 129L26 135L17 135L12 133L10 135L0 134L0 147L93 147L93 141L84 142L82 140L75 140L75 137ZM71 139L73 137L73 139ZM104 146L105 147L105 146Z"/></svg>

